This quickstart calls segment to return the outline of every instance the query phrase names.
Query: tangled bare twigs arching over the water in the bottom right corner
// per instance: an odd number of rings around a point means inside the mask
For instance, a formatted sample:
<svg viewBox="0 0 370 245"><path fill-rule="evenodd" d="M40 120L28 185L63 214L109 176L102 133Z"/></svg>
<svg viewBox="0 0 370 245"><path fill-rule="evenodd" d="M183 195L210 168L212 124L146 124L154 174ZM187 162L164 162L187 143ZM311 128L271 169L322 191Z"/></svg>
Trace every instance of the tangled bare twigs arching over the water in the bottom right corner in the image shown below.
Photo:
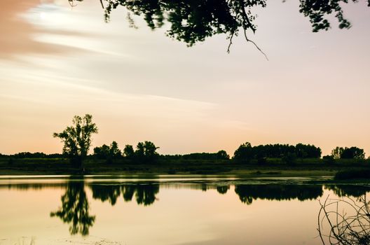
<svg viewBox="0 0 370 245"><path fill-rule="evenodd" d="M370 244L370 202L366 195L320 202L318 232L322 244Z"/></svg>

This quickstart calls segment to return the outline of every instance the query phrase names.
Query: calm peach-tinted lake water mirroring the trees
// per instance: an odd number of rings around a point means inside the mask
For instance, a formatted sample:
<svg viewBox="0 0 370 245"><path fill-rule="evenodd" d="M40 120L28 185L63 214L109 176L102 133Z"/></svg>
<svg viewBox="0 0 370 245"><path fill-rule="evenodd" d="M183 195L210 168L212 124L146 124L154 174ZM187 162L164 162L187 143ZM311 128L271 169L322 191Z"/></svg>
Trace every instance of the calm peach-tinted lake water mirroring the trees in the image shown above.
<svg viewBox="0 0 370 245"><path fill-rule="evenodd" d="M370 189L307 181L4 176L0 244L322 244L319 200Z"/></svg>

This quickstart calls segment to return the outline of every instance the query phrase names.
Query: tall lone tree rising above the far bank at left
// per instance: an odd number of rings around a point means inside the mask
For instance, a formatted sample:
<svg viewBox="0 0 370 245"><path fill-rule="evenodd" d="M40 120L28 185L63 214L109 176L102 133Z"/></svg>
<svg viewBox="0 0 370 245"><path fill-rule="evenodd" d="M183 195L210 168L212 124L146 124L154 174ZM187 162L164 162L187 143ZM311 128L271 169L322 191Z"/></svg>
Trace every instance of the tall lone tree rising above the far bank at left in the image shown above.
<svg viewBox="0 0 370 245"><path fill-rule="evenodd" d="M63 132L53 134L53 137L60 138L64 143L63 154L67 155L71 163L79 168L82 168L83 158L88 155L92 134L97 133L97 127L92 119L93 116L89 114L83 118L74 116L71 126Z"/></svg>

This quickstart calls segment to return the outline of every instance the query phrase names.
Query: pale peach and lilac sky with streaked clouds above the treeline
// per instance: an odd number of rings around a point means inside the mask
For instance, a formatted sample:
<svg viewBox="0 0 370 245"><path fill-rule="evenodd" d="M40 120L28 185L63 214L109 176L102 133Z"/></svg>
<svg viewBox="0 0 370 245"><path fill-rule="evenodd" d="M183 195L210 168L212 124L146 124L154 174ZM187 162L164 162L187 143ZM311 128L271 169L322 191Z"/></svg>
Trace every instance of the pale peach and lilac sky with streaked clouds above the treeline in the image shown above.
<svg viewBox="0 0 370 245"><path fill-rule="evenodd" d="M188 48L100 1L2 0L0 153L60 153L52 137L93 115L93 145L153 141L162 154L233 155L240 144L315 144L370 154L370 8L343 6L351 29L313 33L299 1L256 9L256 34Z"/></svg>

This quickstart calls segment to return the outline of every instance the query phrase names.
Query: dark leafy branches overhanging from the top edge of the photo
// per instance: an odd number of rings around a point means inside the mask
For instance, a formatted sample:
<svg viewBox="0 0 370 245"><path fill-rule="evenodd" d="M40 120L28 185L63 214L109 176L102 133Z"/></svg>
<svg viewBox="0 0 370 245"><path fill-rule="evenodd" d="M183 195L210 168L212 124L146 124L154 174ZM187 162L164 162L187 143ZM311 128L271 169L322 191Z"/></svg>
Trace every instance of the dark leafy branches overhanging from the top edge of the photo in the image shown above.
<svg viewBox="0 0 370 245"><path fill-rule="evenodd" d="M73 6L75 1L83 0L68 1ZM356 3L358 0L349 1ZM101 0L101 3L106 22L111 19L111 11L122 6L127 10L130 27L137 28L132 15L142 17L151 29L163 27L168 23L167 36L192 46L214 34L226 34L231 44L233 36L238 36L240 31L246 40L250 41L247 31L256 31L256 15L253 9L265 8L268 1ZM335 16L339 28L348 29L351 26L344 17L342 8L348 0L299 0L299 3L299 12L309 18L314 32L329 29L331 25L328 18L331 15ZM367 0L367 3L370 6L370 0ZM228 50L229 48L230 45Z"/></svg>

